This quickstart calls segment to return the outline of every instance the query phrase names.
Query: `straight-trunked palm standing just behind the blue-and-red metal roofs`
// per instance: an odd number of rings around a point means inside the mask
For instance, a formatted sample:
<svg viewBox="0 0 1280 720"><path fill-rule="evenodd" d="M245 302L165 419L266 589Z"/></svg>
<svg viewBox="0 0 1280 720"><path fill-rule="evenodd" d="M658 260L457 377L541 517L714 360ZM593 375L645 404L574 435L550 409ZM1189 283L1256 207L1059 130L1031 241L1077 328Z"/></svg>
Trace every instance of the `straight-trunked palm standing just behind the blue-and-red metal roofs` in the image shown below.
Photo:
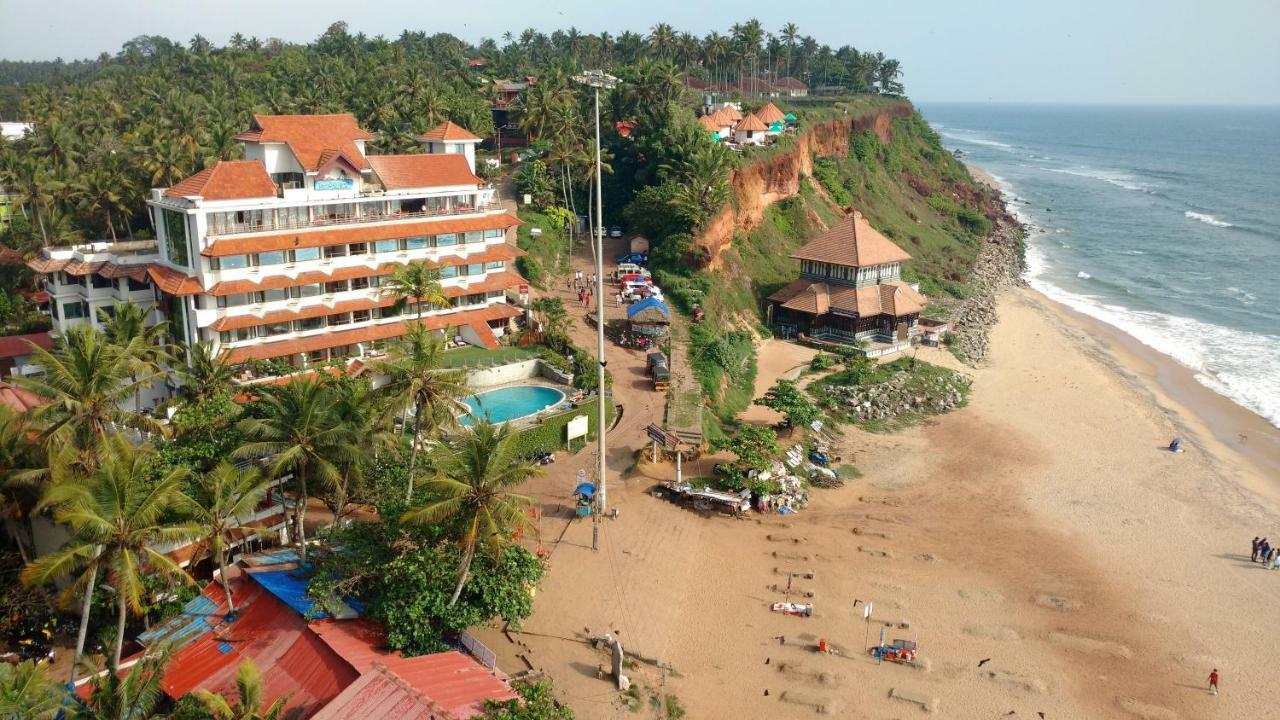
<svg viewBox="0 0 1280 720"><path fill-rule="evenodd" d="M246 418L237 429L250 438L233 457L269 459L269 471L297 482L294 538L298 557L307 561L306 519L311 480L332 486L342 480L340 462L358 455L358 441L333 410L333 396L324 378L294 377L287 384L264 391L261 418Z"/></svg>

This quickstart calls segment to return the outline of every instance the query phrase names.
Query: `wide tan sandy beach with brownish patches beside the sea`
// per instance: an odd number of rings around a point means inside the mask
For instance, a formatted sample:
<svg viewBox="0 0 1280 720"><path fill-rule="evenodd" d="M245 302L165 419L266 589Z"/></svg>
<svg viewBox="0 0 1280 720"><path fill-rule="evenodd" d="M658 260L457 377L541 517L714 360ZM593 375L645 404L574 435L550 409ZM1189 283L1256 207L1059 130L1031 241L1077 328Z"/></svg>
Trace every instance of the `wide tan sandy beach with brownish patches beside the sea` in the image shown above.
<svg viewBox="0 0 1280 720"><path fill-rule="evenodd" d="M620 516L593 551L590 524L558 510L590 459L553 465L529 488L552 553L535 612L516 642L479 634L585 719L632 716L581 642L603 632L669 667L627 670L641 697L676 696L696 719L1277 716L1280 573L1245 552L1280 538L1274 428L1216 407L1249 428L1257 450L1240 455L1157 382L1176 377L1158 356L1029 290L1000 316L968 407L891 436L847 429L840 452L864 477L797 515L704 518L650 497L673 468L641 464L612 480ZM1187 452L1165 450L1174 436ZM791 596L813 618L769 611L788 571L813 574ZM868 659L882 628L919 643L919 666ZM818 638L841 653L818 655ZM658 715L645 701L637 716Z"/></svg>

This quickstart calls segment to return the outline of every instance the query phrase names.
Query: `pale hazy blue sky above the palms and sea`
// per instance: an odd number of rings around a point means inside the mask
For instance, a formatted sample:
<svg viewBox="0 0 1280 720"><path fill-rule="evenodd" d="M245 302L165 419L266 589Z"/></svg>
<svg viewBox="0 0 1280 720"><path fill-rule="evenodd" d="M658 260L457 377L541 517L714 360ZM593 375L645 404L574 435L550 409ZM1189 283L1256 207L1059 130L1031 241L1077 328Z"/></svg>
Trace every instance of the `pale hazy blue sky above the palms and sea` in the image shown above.
<svg viewBox="0 0 1280 720"><path fill-rule="evenodd" d="M0 0L0 59L95 58L137 35L308 41L338 19L352 32L477 41L658 22L701 36L749 17L895 56L922 101L1280 102L1280 0Z"/></svg>

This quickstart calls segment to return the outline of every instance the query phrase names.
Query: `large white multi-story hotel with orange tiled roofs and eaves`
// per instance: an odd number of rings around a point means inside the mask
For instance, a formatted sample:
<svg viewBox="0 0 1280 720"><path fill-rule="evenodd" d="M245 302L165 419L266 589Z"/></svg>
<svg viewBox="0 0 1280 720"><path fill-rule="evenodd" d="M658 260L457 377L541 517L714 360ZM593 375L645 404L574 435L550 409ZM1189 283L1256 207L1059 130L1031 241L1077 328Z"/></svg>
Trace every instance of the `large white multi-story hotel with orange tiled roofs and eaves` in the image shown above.
<svg viewBox="0 0 1280 720"><path fill-rule="evenodd" d="M451 340L495 347L521 315L520 222L476 177L466 129L424 135L424 154L369 155L351 114L255 115L237 140L244 160L151 191L155 241L47 247L29 263L55 329L124 300L237 364L358 357L417 316L381 287L415 261L440 268L451 304L421 307L422 322Z"/></svg>

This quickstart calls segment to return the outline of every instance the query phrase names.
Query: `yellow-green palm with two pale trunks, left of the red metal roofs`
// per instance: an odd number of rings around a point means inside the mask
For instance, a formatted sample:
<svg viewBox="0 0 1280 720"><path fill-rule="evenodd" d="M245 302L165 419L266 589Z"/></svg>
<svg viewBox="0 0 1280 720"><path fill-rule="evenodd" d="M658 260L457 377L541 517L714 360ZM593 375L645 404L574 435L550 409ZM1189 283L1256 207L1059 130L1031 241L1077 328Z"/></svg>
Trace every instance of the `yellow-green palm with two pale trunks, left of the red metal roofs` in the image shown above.
<svg viewBox="0 0 1280 720"><path fill-rule="evenodd" d="M128 612L142 611L142 578L159 574L193 582L173 560L155 550L160 543L191 539L197 528L165 516L179 505L186 470L174 468L155 478L155 450L134 447L123 436L111 436L99 451L99 466L87 482L61 482L45 492L42 502L54 507L54 518L67 525L72 537L58 551L45 555L22 571L24 583L45 583L79 574L64 591L84 593L81 634L76 661L84 650L88 606L100 570L115 588L116 628L113 657L120 661ZM74 662L72 673L74 674Z"/></svg>

